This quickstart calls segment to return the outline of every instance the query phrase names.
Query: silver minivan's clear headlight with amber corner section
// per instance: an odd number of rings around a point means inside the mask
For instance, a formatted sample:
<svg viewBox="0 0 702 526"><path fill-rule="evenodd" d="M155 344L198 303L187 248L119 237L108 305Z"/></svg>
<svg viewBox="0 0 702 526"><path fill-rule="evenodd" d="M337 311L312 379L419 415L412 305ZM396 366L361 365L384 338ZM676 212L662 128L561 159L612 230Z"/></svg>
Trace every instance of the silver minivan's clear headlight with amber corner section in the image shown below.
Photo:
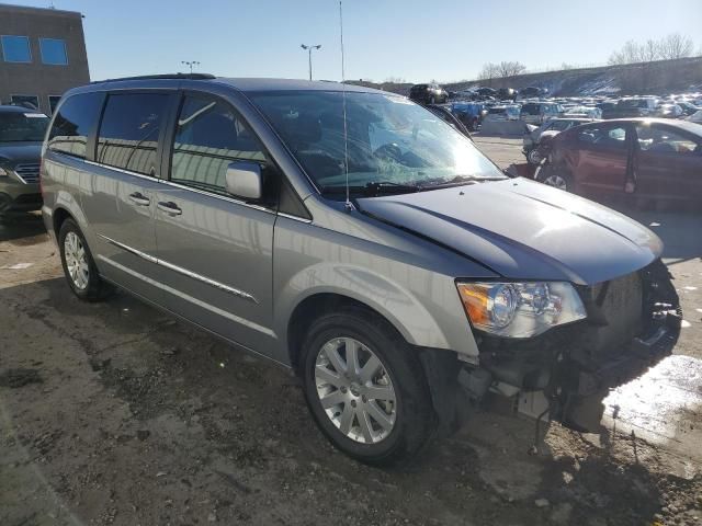
<svg viewBox="0 0 702 526"><path fill-rule="evenodd" d="M456 283L473 327L506 338L529 338L587 317L565 282Z"/></svg>

